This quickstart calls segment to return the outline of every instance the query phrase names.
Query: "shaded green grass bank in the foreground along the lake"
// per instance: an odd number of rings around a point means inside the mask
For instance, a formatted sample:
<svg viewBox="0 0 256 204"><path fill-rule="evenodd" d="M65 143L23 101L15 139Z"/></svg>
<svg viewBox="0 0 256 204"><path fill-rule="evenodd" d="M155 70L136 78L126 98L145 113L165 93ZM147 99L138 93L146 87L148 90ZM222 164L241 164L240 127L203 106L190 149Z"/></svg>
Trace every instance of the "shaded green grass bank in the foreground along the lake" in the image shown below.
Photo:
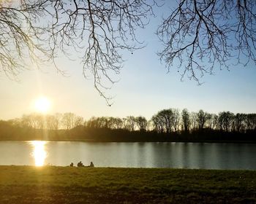
<svg viewBox="0 0 256 204"><path fill-rule="evenodd" d="M0 203L256 203L256 171L0 166Z"/></svg>

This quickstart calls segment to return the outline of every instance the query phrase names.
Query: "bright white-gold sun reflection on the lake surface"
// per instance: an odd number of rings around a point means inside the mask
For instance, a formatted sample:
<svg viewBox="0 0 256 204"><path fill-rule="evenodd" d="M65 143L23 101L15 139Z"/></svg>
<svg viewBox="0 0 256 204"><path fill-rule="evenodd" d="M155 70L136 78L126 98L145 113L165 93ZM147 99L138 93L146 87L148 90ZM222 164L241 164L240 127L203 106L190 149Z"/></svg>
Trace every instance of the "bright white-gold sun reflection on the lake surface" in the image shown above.
<svg viewBox="0 0 256 204"><path fill-rule="evenodd" d="M30 144L33 146L32 156L34 157L34 165L42 166L45 163L47 152L45 151L46 141L31 141Z"/></svg>

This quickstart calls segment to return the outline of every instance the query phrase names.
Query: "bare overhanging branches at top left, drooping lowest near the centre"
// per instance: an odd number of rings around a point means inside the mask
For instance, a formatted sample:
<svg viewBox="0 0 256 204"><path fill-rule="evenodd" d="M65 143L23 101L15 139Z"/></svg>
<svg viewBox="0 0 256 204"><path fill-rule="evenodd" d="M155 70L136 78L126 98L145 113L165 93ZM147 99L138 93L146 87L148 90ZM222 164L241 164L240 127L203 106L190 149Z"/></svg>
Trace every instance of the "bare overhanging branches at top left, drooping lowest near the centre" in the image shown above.
<svg viewBox="0 0 256 204"><path fill-rule="evenodd" d="M32 59L34 53L42 52L39 54L53 63L61 51L68 57L79 57L84 76L91 72L94 87L109 103L104 90L109 82L115 83L113 74L120 72L124 62L121 52L144 46L136 39L135 29L146 26L148 16L154 15L154 4L154 0L0 3L1 69L7 74L18 74L20 66L26 67L20 61L27 57L24 55L27 50ZM75 56L70 53L74 50Z"/></svg>

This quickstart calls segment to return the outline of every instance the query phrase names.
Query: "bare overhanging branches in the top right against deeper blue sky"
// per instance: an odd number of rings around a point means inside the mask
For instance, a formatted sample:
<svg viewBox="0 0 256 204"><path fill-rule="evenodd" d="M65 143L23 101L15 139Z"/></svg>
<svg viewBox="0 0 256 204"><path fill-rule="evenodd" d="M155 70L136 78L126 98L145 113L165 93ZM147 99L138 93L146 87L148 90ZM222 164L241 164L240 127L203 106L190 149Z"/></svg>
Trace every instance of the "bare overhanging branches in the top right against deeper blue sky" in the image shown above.
<svg viewBox="0 0 256 204"><path fill-rule="evenodd" d="M199 82L231 60L256 63L256 1L182 0L157 30L165 48L159 52L171 66ZM198 76L199 75L199 76Z"/></svg>

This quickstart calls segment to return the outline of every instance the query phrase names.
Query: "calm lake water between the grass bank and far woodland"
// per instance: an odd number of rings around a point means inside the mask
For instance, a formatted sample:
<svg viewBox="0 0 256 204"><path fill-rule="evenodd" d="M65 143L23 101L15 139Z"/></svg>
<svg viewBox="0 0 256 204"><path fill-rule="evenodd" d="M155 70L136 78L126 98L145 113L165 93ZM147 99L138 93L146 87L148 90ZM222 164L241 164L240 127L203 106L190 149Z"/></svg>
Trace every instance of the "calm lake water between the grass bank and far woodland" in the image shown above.
<svg viewBox="0 0 256 204"><path fill-rule="evenodd" d="M0 165L256 170L256 144L0 141Z"/></svg>

